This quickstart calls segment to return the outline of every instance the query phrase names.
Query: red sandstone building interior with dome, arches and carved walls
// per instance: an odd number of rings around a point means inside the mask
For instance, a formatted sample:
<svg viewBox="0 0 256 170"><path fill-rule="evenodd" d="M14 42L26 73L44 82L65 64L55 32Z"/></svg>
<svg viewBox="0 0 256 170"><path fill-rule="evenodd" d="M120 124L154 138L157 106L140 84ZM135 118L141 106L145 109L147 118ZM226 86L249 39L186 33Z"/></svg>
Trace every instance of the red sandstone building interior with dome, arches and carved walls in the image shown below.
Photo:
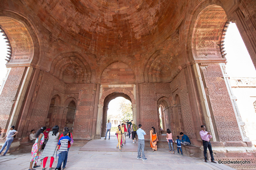
<svg viewBox="0 0 256 170"><path fill-rule="evenodd" d="M256 169L256 153L226 81L224 38L235 22L256 66L255 0L2 0L0 28L11 70L0 96L0 126L18 137L69 126L99 139L108 102L122 96L145 131L183 131L201 147L212 132L217 160ZM160 134L160 133L158 133Z"/></svg>

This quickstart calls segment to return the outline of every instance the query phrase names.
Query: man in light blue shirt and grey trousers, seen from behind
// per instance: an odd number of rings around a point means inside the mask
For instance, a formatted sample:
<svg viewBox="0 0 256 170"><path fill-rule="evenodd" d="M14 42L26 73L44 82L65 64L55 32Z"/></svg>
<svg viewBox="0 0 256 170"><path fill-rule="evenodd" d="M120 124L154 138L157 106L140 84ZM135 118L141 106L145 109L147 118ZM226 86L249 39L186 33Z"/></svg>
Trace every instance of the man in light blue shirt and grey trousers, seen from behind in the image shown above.
<svg viewBox="0 0 256 170"><path fill-rule="evenodd" d="M145 140L144 140L144 135L146 135L146 132L144 130L141 129L142 125L139 124L139 129L136 131L137 135L138 135L138 157L137 159L140 159L140 155L142 152L142 160L147 160L145 154L144 154L144 147L145 147ZM140 152L141 150L141 152Z"/></svg>

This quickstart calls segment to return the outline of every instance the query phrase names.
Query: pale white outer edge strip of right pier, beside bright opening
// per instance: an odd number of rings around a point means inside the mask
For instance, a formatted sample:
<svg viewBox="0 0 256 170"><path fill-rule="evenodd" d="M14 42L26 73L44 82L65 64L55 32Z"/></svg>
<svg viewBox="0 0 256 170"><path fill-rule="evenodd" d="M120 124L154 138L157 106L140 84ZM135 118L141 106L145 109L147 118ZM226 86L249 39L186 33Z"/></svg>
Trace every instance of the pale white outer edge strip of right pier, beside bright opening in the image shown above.
<svg viewBox="0 0 256 170"><path fill-rule="evenodd" d="M232 87L231 87L231 84L230 84L230 81L229 81L229 76L228 76L228 74L226 73L226 70L225 70L225 65L226 65L225 63L220 63L220 68L221 68L222 74L224 76L224 81L226 83L226 86L227 86L227 89L228 89L228 94L230 96L231 103L232 103L232 106L233 106L233 109L234 109L234 112L235 112L235 115L236 115L236 121L238 122L238 128L239 128L239 131L241 133L242 140L244 142L250 142L250 139L248 137L246 137L246 134L245 134L245 131L244 131L245 123L242 121L242 118L240 116L238 106L236 104L236 96L234 96L234 93L232 91Z"/></svg>

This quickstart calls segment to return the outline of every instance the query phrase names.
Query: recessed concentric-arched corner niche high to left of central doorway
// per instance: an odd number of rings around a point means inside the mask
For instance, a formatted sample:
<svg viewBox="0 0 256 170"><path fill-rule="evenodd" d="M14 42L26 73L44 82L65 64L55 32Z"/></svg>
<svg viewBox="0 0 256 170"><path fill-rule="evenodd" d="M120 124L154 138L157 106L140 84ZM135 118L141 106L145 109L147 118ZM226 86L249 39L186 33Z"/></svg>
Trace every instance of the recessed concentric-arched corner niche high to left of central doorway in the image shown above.
<svg viewBox="0 0 256 170"><path fill-rule="evenodd" d="M76 52L63 53L52 61L50 73L66 83L85 83L91 80L91 68Z"/></svg>

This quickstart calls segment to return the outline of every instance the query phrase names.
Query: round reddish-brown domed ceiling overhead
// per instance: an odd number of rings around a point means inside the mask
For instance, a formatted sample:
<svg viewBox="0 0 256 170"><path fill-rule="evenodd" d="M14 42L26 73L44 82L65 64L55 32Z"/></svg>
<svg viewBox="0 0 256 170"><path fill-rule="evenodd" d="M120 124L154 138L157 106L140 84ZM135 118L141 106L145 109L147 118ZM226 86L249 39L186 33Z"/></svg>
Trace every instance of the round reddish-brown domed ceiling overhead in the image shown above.
<svg viewBox="0 0 256 170"><path fill-rule="evenodd" d="M176 29L185 0L27 0L38 20L62 41L91 53L134 55Z"/></svg>

